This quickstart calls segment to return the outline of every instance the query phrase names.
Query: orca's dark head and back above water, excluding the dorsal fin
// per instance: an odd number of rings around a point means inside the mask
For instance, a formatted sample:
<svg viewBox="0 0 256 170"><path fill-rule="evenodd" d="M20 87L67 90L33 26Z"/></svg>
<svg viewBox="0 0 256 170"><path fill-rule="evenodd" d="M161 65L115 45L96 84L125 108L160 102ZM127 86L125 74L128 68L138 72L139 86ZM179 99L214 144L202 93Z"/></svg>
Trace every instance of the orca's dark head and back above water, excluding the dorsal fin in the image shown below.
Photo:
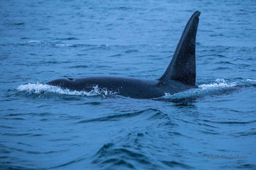
<svg viewBox="0 0 256 170"><path fill-rule="evenodd" d="M53 80L47 83L64 89L84 90L90 92L93 87L107 89L118 95L137 99L151 99L164 96L164 93L175 94L182 90L190 89L179 81L170 80L143 80L129 77L115 76L90 76L86 78L67 78Z"/></svg>

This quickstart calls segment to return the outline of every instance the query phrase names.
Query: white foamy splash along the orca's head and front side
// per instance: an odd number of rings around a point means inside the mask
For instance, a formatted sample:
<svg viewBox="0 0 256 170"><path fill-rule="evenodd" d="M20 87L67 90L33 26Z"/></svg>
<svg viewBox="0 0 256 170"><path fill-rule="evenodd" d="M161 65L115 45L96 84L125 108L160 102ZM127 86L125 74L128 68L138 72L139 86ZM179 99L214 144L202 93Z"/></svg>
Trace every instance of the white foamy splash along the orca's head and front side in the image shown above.
<svg viewBox="0 0 256 170"><path fill-rule="evenodd" d="M26 85L19 85L19 87L17 87L17 90L19 90L20 92L29 92L31 94L44 94L45 92L47 92L54 94L67 94L72 96L108 96L115 94L115 92L108 91L107 89L100 89L98 86L93 87L93 90L91 90L90 92L85 92L61 89L60 87L45 85L42 83L28 83Z"/></svg>

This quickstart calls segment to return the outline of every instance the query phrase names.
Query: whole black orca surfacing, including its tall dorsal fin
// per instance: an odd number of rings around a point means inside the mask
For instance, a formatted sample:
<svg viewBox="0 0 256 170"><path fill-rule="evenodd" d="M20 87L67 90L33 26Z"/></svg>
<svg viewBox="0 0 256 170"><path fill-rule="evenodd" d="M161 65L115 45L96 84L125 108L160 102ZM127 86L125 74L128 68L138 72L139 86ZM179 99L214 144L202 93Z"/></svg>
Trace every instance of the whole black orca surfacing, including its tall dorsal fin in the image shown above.
<svg viewBox="0 0 256 170"><path fill-rule="evenodd" d="M175 94L195 88L195 46L199 16L200 11L195 11L189 18L169 66L163 76L157 80L117 76L86 76L84 78L53 80L47 85L86 92L90 92L97 86L99 89L107 89L120 96L136 99L152 99L164 96L166 93Z"/></svg>

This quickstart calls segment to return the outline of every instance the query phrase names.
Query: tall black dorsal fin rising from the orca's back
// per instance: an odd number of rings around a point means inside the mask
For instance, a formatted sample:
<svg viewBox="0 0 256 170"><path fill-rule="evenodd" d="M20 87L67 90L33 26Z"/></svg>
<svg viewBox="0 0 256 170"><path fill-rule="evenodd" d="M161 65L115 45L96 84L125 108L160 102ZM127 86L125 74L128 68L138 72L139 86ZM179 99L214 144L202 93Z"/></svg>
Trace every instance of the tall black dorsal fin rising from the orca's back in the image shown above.
<svg viewBox="0 0 256 170"><path fill-rule="evenodd" d="M176 47L172 60L159 80L177 80L185 85L195 86L195 43L199 15L200 11L195 11L190 17L182 36L180 37L179 44Z"/></svg>

